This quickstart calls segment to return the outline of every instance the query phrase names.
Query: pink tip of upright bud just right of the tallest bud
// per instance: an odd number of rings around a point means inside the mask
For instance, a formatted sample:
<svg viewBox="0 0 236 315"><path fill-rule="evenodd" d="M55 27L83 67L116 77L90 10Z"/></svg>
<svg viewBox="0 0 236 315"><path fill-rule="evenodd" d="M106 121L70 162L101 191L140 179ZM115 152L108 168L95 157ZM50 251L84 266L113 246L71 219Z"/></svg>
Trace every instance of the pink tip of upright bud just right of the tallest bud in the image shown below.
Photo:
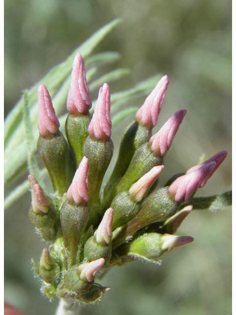
<svg viewBox="0 0 236 315"><path fill-rule="evenodd" d="M92 138L106 141L112 134L112 121L110 117L111 101L110 88L104 83L99 90L95 110L89 124L89 134Z"/></svg>

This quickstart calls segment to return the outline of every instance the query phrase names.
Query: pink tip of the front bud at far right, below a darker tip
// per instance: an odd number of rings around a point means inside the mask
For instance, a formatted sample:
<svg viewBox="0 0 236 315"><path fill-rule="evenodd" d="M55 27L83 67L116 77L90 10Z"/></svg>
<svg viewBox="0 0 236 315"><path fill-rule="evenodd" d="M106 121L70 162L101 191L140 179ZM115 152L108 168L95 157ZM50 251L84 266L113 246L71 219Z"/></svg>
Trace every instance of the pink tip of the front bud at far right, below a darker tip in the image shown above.
<svg viewBox="0 0 236 315"><path fill-rule="evenodd" d="M175 180L175 182L169 187L169 194L177 203L188 201L192 193L197 190L206 179L209 178L215 166L216 162L210 162L190 174L177 178L177 180Z"/></svg>

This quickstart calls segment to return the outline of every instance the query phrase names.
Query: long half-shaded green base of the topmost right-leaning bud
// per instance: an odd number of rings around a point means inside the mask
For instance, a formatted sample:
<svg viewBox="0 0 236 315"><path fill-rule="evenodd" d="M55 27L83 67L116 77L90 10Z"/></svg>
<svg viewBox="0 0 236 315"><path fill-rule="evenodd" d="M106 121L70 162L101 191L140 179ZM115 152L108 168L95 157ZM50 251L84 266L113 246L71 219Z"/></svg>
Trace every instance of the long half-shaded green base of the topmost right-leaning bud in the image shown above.
<svg viewBox="0 0 236 315"><path fill-rule="evenodd" d="M114 189L114 184L123 177L135 151L151 137L151 130L144 125L139 125L136 120L130 122L121 136L118 159L114 171L106 184L103 196Z"/></svg>

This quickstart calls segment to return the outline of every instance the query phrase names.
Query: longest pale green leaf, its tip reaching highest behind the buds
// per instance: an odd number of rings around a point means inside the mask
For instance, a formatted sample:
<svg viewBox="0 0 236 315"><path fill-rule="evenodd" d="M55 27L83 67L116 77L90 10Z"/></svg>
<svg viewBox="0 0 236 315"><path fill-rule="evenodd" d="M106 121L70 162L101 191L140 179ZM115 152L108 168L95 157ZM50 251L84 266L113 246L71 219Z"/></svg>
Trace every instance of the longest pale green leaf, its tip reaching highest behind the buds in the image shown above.
<svg viewBox="0 0 236 315"><path fill-rule="evenodd" d="M28 91L28 101L31 115L31 122L33 126L33 132L36 132L37 121L37 89L41 83L44 83L51 97L53 98L54 107L56 111L61 112L61 107L64 105L68 89L69 89L69 77L72 70L72 63L74 56L79 51L86 59L96 45L103 39L103 37L112 31L112 29L121 22L121 19L116 19L99 31L95 32L87 41L79 46L65 62L58 64L38 83L36 83ZM110 61L116 59L118 56L114 53L110 53ZM108 56L108 55L107 55ZM105 62L106 55L100 54L100 57L96 57L97 63L100 61ZM95 59L94 59L95 61ZM94 69L91 70L90 75L94 74ZM88 73L87 73L88 76ZM61 89L59 90L59 88ZM59 91L59 92L58 92ZM56 93L58 94L56 95ZM54 99L55 96L55 99ZM4 152L4 181L5 183L14 179L19 170L23 169L27 159L26 141L25 141L25 129L22 121L22 106L24 103L24 97L22 97L16 104L14 109L7 116L4 123L4 139L5 139L5 152Z"/></svg>

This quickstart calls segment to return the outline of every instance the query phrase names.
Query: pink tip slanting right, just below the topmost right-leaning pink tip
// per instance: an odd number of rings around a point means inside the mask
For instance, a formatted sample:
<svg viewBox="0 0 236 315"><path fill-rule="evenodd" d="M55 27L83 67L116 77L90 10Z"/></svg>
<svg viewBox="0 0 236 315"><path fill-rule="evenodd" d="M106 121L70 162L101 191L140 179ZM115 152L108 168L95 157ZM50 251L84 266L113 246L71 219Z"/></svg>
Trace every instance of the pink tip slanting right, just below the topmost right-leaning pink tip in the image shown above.
<svg viewBox="0 0 236 315"><path fill-rule="evenodd" d="M186 115L186 109L177 111L150 140L151 150L157 156L165 156L170 150L173 139Z"/></svg>

